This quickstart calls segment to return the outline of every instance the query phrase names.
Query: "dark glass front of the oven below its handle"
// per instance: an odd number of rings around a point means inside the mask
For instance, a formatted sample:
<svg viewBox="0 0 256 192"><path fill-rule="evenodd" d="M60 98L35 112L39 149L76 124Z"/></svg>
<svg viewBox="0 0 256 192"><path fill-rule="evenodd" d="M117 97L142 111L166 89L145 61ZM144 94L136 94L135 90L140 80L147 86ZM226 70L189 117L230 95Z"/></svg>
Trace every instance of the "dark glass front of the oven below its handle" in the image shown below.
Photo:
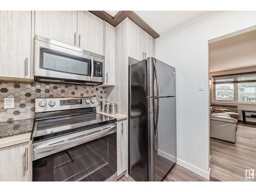
<svg viewBox="0 0 256 192"><path fill-rule="evenodd" d="M116 133L33 161L33 181L104 181L117 172Z"/></svg>

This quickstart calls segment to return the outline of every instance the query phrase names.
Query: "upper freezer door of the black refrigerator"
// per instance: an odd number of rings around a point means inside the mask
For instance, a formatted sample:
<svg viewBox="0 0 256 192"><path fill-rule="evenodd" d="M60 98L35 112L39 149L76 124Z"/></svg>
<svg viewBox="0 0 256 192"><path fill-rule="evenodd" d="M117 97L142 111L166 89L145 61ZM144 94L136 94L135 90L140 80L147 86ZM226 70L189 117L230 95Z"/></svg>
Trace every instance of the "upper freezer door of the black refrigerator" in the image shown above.
<svg viewBox="0 0 256 192"><path fill-rule="evenodd" d="M175 95L175 68L153 57L147 58L147 96Z"/></svg>

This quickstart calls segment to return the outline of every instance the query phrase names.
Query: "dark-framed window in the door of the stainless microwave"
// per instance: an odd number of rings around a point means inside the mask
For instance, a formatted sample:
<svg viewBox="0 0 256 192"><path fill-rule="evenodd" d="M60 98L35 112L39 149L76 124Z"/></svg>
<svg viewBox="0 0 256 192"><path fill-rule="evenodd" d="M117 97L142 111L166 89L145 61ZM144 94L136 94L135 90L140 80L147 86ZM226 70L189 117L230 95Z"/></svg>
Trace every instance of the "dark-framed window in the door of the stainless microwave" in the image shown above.
<svg viewBox="0 0 256 192"><path fill-rule="evenodd" d="M90 59L40 48L40 68L62 73L90 76Z"/></svg>

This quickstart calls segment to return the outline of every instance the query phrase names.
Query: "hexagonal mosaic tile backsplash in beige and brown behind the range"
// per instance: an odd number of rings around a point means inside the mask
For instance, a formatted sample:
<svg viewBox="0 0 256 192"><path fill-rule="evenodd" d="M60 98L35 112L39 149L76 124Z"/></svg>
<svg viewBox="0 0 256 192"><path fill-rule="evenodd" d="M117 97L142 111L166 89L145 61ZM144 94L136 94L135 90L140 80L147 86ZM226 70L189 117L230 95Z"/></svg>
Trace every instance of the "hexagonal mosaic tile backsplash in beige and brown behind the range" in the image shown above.
<svg viewBox="0 0 256 192"><path fill-rule="evenodd" d="M35 98L97 97L105 99L102 87L38 82L0 81L0 122L34 118ZM4 98L14 97L14 109L4 109Z"/></svg>

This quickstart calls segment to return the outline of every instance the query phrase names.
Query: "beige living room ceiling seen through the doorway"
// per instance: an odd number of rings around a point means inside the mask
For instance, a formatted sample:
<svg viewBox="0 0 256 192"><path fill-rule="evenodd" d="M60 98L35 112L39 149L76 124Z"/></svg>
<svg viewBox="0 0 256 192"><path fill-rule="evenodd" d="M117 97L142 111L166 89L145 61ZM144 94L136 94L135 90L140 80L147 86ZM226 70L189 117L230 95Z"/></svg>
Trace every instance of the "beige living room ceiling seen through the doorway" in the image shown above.
<svg viewBox="0 0 256 192"><path fill-rule="evenodd" d="M256 66L256 30L209 44L209 71Z"/></svg>

